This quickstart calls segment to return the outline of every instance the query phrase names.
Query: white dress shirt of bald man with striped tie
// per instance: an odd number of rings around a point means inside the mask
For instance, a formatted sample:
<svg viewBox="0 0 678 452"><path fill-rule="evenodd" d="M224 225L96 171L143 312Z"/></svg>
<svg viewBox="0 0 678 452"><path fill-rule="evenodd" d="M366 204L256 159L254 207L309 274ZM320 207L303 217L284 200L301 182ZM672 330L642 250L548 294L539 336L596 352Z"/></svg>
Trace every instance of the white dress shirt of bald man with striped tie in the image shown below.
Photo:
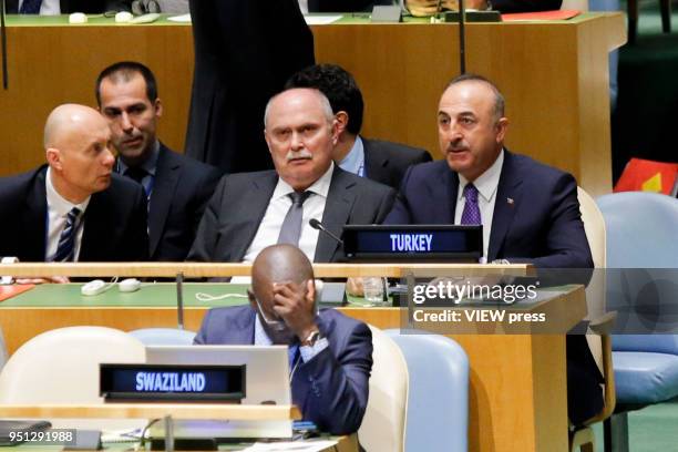
<svg viewBox="0 0 678 452"><path fill-rule="evenodd" d="M48 202L48 239L44 260L52 261L54 258L56 248L59 247L59 238L61 237L61 233L65 227L69 212L71 212L73 207L78 207L80 209L80 216L78 217L78 229L75 232L75 242L73 244L73 261L78 261L80 256L80 245L82 244L83 215L88 208L88 205L90 204L91 196L88 196L88 198L80 204L72 204L64 199L52 184L52 172L49 167L44 178L44 186Z"/></svg>

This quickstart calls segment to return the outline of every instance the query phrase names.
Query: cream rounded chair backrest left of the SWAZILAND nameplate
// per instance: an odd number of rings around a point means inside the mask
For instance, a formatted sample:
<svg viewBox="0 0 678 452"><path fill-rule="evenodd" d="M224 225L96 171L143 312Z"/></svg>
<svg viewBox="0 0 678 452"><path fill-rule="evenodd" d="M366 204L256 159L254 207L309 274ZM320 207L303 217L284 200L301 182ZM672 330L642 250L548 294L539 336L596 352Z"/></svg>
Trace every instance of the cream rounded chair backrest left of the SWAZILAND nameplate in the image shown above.
<svg viewBox="0 0 678 452"><path fill-rule="evenodd" d="M99 364L144 362L144 345L124 331L69 327L25 342L0 373L0 403L103 403Z"/></svg>

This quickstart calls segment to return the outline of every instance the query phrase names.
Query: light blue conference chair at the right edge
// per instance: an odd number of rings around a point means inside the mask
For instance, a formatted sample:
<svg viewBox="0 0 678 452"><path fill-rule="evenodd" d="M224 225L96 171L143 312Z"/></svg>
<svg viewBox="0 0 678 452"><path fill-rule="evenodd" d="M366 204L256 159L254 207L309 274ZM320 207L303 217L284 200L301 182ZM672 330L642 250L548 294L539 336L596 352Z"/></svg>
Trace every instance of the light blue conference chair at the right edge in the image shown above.
<svg viewBox="0 0 678 452"><path fill-rule="evenodd" d="M678 302L671 280L678 271L678 199L624 192L597 203L607 227L608 305L619 312L626 331L645 326L655 332L613 337L617 408L605 423L605 450L626 451L627 412L678 396L678 336L660 333L675 331L675 326L648 316L654 308Z"/></svg>

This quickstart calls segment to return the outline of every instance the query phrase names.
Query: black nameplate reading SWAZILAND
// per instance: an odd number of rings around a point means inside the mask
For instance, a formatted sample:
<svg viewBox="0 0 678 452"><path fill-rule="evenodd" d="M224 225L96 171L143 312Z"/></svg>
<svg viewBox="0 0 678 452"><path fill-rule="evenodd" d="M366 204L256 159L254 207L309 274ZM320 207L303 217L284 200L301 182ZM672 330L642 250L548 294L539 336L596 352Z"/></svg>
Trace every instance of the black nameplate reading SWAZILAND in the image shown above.
<svg viewBox="0 0 678 452"><path fill-rule="evenodd" d="M100 364L106 401L239 401L246 366Z"/></svg>

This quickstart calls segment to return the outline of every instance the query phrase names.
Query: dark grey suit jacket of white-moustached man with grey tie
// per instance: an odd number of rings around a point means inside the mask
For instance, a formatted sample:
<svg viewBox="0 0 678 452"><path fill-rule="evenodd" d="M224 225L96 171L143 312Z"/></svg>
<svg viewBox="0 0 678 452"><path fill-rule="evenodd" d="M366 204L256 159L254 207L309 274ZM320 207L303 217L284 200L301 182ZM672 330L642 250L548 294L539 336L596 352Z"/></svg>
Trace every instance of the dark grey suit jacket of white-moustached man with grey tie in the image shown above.
<svg viewBox="0 0 678 452"><path fill-rule="evenodd" d="M207 204L188 260L242 261L277 183L275 171L230 174L222 178ZM394 196L392 188L335 166L322 224L341 236L345 224L381 223ZM314 261L332 263L342 258L339 244L320 232Z"/></svg>

